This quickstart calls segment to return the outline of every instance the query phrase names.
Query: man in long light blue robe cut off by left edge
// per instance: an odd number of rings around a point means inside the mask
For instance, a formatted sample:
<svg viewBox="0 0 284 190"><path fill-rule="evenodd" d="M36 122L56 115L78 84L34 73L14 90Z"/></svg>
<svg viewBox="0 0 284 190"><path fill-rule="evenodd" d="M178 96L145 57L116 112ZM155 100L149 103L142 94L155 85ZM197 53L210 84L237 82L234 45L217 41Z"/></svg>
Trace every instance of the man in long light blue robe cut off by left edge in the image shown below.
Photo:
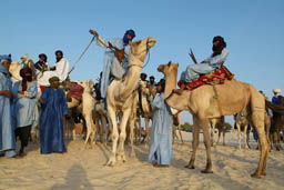
<svg viewBox="0 0 284 190"><path fill-rule="evenodd" d="M0 153L8 158L16 157L14 126L12 124L11 101L12 82L9 76L10 56L0 56Z"/></svg>

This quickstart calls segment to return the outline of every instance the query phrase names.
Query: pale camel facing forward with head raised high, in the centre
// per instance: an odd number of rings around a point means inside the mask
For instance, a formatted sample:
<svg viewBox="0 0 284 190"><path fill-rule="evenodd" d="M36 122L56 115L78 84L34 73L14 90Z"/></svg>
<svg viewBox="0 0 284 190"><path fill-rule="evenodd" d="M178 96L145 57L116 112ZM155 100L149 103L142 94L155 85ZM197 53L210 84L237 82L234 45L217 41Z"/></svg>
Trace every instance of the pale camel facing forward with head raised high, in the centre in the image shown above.
<svg viewBox="0 0 284 190"><path fill-rule="evenodd" d="M108 113L112 123L112 154L108 161L108 166L114 166L116 160L118 139L120 138L118 148L118 160L125 161L124 140L125 128L131 113L136 109L134 103L134 89L139 82L144 59L148 51L155 44L155 39L149 37L144 40L139 40L130 43L129 50L129 70L121 80L113 80L106 90ZM119 134L116 124L116 111L122 112L120 120L121 132ZM135 117L135 116L134 116ZM133 126L134 119L130 120L131 130L131 156L133 156Z"/></svg>

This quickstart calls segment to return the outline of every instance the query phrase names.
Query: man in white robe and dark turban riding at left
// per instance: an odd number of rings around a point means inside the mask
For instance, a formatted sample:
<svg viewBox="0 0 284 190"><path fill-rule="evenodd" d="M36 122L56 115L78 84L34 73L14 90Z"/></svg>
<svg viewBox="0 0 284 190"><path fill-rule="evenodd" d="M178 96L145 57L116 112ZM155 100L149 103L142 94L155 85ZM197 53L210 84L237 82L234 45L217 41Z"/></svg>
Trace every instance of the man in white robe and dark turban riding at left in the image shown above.
<svg viewBox="0 0 284 190"><path fill-rule="evenodd" d="M69 62L63 57L63 52L61 50L55 51L57 63L52 68L51 71L43 72L42 76L38 78L38 83L40 86L49 86L49 79L52 77L58 77L60 82L64 81L68 77L69 72Z"/></svg>

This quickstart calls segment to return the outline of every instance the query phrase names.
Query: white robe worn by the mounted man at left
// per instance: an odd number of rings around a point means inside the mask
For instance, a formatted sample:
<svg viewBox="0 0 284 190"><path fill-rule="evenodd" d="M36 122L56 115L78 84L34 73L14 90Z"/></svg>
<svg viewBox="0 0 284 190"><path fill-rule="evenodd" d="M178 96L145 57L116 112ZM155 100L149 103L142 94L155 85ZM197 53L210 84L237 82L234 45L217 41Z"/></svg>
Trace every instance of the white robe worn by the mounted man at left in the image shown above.
<svg viewBox="0 0 284 190"><path fill-rule="evenodd" d="M69 72L69 62L65 58L62 58L59 62L57 62L57 69L54 71L44 71L43 74L39 76L38 84L39 86L50 86L49 79L52 77L58 77L60 82L64 81L68 77Z"/></svg>

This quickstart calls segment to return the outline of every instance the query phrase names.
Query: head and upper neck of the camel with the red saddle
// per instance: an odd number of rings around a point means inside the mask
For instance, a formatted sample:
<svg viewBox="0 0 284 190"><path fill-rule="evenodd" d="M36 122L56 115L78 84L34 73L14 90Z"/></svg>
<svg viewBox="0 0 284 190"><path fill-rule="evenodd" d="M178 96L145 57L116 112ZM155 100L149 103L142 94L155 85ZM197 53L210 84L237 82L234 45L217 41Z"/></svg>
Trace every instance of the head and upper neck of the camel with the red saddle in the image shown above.
<svg viewBox="0 0 284 190"><path fill-rule="evenodd" d="M160 64L158 68L159 72L164 74L165 79L165 89L164 97L168 98L172 90L176 87L176 74L178 74L179 63L170 61L168 64Z"/></svg>

